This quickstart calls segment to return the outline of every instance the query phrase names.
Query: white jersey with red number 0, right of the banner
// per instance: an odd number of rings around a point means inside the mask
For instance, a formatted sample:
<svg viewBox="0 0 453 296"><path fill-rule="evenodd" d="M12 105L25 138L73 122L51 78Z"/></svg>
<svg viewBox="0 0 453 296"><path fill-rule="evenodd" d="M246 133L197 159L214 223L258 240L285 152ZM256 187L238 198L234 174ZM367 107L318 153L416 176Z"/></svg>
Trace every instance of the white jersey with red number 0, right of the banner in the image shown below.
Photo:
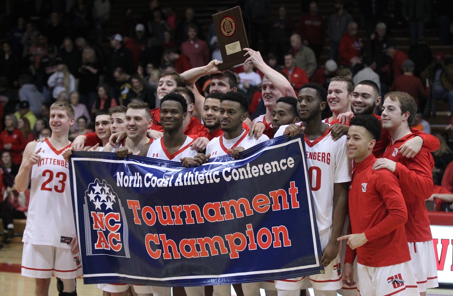
<svg viewBox="0 0 453 296"><path fill-rule="evenodd" d="M274 138L283 135L280 126ZM346 136L333 141L330 129L314 141L304 135L308 178L311 183L318 231L332 226L333 184L351 181L352 161L347 158Z"/></svg>

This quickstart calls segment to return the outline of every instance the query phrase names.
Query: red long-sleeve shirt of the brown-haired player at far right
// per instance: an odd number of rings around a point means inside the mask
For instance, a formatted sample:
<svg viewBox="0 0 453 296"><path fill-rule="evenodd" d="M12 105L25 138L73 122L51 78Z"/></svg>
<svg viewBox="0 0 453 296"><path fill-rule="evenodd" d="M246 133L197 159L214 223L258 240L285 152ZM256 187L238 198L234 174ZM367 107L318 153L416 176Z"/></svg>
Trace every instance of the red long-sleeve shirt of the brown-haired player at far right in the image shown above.
<svg viewBox="0 0 453 296"><path fill-rule="evenodd" d="M382 157L396 162L395 176L400 182L408 212L405 224L407 241L425 242L433 239L424 202L433 193L434 159L424 147L414 158L406 158L398 151L401 145L415 136L408 134L393 144L389 143Z"/></svg>

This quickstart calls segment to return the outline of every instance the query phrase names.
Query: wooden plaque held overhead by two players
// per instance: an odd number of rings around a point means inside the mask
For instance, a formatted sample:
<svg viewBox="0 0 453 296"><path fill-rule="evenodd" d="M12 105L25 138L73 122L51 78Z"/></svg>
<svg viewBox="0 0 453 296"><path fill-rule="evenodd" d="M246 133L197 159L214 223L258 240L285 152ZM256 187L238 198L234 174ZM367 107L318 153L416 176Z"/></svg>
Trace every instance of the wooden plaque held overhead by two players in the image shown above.
<svg viewBox="0 0 453 296"><path fill-rule="evenodd" d="M236 6L213 14L212 19L216 27L217 41L223 60L218 67L219 70L243 65L248 56L244 57L246 51L242 48L248 48L249 41L242 19L241 7Z"/></svg>

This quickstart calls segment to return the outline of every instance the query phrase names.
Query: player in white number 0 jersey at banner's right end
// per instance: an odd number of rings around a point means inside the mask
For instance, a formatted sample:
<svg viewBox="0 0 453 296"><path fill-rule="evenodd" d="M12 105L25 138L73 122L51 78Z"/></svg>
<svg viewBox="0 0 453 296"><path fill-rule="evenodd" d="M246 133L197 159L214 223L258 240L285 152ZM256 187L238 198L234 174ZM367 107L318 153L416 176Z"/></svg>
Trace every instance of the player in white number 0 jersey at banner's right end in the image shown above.
<svg viewBox="0 0 453 296"><path fill-rule="evenodd" d="M336 296L341 288L339 242L347 212L347 191L351 181L351 162L347 159L346 137L333 141L329 124L321 121L321 111L327 105L327 93L317 83L302 86L297 98L297 110L302 124L283 125L275 137L295 136L305 129L304 141L308 157L308 173L315 205L316 222L323 255L320 263L324 273L277 281L279 296L298 296L300 289L313 285L316 296ZM310 153L316 152L316 153ZM317 155L326 155L318 158ZM309 282L308 282L309 281Z"/></svg>

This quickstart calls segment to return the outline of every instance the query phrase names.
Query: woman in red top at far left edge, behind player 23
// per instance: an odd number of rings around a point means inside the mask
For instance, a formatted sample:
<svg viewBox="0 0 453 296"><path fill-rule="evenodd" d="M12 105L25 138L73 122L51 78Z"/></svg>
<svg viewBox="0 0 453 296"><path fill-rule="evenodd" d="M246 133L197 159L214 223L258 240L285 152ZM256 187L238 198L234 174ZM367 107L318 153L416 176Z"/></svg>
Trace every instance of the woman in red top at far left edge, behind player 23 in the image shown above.
<svg viewBox="0 0 453 296"><path fill-rule="evenodd" d="M17 128L17 118L6 115L5 130L0 134L0 151L9 151L14 164L20 165L26 144L24 134Z"/></svg>

